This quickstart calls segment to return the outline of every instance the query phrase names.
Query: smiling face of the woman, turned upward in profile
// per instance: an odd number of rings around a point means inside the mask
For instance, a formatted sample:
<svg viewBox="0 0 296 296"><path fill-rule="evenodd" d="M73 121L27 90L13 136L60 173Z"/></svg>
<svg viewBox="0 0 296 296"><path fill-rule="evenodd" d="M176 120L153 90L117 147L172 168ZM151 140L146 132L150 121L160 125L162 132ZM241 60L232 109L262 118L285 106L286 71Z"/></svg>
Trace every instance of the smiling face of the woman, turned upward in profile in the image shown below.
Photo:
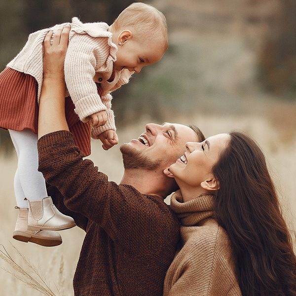
<svg viewBox="0 0 296 296"><path fill-rule="evenodd" d="M184 155L170 166L181 190L184 186L200 187L202 182L213 179L212 168L229 140L228 134L218 134L201 143L186 143Z"/></svg>

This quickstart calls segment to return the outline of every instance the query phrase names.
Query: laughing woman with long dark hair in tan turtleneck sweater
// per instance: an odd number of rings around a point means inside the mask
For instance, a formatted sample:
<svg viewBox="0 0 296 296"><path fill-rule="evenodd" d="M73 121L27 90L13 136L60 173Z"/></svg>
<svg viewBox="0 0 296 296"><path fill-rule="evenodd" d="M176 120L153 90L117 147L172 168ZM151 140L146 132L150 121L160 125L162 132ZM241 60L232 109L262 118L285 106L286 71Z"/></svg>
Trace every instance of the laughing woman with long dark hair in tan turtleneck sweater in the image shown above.
<svg viewBox="0 0 296 296"><path fill-rule="evenodd" d="M296 296L296 256L258 145L231 132L187 143L170 166L181 244L164 296Z"/></svg>

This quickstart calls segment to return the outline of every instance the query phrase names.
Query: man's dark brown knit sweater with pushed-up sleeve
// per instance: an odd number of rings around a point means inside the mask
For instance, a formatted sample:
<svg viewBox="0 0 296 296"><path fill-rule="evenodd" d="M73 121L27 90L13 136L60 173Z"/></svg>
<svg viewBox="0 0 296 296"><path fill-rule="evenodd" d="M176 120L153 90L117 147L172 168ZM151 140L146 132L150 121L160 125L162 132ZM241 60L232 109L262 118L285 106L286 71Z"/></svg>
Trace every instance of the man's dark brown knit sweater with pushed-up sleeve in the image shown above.
<svg viewBox="0 0 296 296"><path fill-rule="evenodd" d="M82 159L70 132L43 136L38 153L55 205L86 231L75 296L161 296L179 239L179 222L163 199L109 182Z"/></svg>

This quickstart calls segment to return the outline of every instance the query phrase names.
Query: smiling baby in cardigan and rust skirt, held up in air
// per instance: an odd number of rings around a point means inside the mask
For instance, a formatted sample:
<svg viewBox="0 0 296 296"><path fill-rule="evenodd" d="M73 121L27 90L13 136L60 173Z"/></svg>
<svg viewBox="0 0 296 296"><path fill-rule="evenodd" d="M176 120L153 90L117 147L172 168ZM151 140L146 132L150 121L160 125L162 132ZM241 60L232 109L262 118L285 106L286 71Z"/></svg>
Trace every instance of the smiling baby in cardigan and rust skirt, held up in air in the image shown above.
<svg viewBox="0 0 296 296"><path fill-rule="evenodd" d="M45 35L71 26L65 59L66 118L74 141L85 156L90 136L108 150L118 144L111 92L133 73L159 61L168 47L164 15L151 5L133 3L114 23L55 25L30 34L21 52L0 73L0 127L7 129L18 155L14 191L19 215L13 238L43 246L62 243L54 230L75 226L47 196L38 168L37 120L42 86ZM69 97L70 95L70 97Z"/></svg>

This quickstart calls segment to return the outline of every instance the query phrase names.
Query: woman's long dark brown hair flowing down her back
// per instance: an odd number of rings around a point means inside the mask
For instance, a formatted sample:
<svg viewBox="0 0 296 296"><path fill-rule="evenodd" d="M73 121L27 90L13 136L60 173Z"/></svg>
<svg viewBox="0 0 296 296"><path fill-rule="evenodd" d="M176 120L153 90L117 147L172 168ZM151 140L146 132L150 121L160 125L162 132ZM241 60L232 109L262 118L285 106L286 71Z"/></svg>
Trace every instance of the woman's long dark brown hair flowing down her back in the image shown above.
<svg viewBox="0 0 296 296"><path fill-rule="evenodd" d="M231 132L213 167L214 211L232 243L243 296L296 296L296 256L265 157L254 140Z"/></svg>

